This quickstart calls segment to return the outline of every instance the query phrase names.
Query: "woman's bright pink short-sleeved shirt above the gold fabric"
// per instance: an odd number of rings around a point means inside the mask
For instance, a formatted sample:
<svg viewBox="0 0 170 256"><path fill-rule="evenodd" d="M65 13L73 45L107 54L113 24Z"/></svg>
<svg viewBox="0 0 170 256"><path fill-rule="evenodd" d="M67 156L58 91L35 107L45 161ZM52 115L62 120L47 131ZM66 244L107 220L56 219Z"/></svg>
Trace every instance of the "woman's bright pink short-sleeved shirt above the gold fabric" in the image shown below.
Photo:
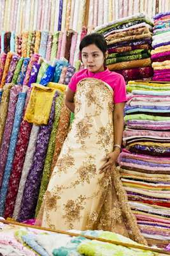
<svg viewBox="0 0 170 256"><path fill-rule="evenodd" d="M76 86L78 82L87 77L100 79L110 85L114 92L113 102L115 104L125 102L127 100L124 77L116 72L108 70L108 68L106 68L106 70L103 72L98 73L90 72L87 68L76 72L73 77L71 77L69 88L73 92L76 92Z"/></svg>

